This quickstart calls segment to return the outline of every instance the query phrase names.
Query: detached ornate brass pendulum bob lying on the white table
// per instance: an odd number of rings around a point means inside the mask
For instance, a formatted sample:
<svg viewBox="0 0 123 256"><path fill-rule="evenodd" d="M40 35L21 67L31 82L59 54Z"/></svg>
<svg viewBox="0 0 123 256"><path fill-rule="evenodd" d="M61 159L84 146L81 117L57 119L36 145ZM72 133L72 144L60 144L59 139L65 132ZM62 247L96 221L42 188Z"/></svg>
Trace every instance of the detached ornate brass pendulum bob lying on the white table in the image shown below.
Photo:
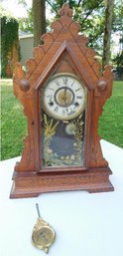
<svg viewBox="0 0 123 256"><path fill-rule="evenodd" d="M49 248L55 242L56 233L54 229L40 215L39 205L36 203L38 220L32 233L32 243L35 247L49 252Z"/></svg>

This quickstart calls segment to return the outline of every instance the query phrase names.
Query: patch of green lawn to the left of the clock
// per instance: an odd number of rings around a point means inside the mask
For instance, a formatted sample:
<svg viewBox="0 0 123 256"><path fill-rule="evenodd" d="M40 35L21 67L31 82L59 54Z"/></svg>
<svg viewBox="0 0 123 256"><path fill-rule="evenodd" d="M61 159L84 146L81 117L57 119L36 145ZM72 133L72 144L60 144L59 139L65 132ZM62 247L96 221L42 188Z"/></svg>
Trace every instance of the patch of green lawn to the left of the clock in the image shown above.
<svg viewBox="0 0 123 256"><path fill-rule="evenodd" d="M12 80L1 84L1 159L7 159L22 153L27 124L23 107L13 95Z"/></svg>

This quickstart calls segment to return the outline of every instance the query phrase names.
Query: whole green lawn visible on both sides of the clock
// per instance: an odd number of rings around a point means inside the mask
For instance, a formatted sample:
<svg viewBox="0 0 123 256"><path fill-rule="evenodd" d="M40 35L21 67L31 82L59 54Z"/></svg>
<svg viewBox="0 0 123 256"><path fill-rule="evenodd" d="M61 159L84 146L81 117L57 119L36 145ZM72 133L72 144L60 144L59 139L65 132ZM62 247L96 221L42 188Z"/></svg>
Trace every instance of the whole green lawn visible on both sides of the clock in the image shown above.
<svg viewBox="0 0 123 256"><path fill-rule="evenodd" d="M1 80L1 159L21 155L27 120L23 108L13 95L12 81ZM99 120L99 134L123 147L123 82L114 82L112 97L106 102Z"/></svg>

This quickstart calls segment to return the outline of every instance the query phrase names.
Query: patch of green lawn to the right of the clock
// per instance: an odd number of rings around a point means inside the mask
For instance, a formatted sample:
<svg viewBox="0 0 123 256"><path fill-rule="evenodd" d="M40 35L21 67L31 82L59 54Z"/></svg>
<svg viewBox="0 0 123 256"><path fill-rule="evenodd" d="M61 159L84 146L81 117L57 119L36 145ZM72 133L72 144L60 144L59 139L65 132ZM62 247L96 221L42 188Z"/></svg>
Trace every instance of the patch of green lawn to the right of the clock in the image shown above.
<svg viewBox="0 0 123 256"><path fill-rule="evenodd" d="M113 84L112 96L104 105L98 132L105 140L123 147L123 81Z"/></svg>

